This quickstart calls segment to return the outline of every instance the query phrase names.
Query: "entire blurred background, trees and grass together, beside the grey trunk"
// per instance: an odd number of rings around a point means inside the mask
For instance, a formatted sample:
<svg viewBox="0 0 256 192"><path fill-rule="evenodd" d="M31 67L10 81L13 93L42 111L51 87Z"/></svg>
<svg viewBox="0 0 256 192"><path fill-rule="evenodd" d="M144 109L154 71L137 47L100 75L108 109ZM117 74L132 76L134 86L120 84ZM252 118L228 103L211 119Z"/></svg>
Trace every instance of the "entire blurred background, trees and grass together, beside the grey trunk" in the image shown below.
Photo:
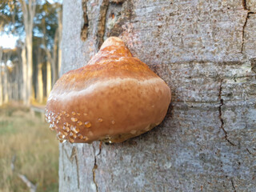
<svg viewBox="0 0 256 192"><path fill-rule="evenodd" d="M58 142L42 117L61 41L61 0L0 1L0 191L58 191Z"/></svg>

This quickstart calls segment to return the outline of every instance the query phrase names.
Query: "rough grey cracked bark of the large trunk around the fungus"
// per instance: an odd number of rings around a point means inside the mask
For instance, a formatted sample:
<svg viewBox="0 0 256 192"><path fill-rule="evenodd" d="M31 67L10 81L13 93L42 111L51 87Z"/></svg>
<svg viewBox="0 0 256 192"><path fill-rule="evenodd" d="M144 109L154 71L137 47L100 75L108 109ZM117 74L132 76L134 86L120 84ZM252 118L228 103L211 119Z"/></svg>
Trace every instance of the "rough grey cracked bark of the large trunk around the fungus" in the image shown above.
<svg viewBox="0 0 256 192"><path fill-rule="evenodd" d="M60 144L59 190L256 191L255 10L253 0L65 0L62 74L119 36L172 103L138 138Z"/></svg>

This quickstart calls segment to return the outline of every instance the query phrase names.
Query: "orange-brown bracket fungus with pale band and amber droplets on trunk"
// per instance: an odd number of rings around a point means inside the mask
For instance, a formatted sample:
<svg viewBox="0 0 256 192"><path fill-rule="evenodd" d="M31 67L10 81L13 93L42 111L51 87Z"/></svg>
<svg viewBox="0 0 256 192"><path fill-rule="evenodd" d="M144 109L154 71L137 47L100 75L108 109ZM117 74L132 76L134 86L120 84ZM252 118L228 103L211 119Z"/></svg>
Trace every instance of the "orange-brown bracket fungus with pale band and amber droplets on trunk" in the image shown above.
<svg viewBox="0 0 256 192"><path fill-rule="evenodd" d="M123 142L158 126L169 105L166 82L111 37L86 66L58 79L46 121L60 142Z"/></svg>

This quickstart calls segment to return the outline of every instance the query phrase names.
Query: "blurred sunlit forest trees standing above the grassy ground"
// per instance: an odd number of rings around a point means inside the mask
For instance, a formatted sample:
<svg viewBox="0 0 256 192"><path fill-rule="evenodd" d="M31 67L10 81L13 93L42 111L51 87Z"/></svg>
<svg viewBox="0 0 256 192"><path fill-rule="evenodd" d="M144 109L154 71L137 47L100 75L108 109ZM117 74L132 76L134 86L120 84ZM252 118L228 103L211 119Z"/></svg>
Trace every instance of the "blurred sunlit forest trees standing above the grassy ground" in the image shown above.
<svg viewBox="0 0 256 192"><path fill-rule="evenodd" d="M44 104L61 66L62 3L2 0L0 10L1 34L18 38L0 47L0 105Z"/></svg>

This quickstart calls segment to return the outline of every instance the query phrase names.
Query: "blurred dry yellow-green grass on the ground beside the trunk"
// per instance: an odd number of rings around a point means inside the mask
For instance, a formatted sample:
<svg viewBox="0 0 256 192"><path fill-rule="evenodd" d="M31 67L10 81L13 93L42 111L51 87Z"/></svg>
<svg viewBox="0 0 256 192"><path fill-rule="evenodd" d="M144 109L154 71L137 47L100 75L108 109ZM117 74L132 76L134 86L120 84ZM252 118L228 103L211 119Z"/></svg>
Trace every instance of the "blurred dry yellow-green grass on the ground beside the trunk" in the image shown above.
<svg viewBox="0 0 256 192"><path fill-rule="evenodd" d="M58 141L48 126L25 108L0 109L1 192L30 191L18 174L37 184L37 192L58 191Z"/></svg>

